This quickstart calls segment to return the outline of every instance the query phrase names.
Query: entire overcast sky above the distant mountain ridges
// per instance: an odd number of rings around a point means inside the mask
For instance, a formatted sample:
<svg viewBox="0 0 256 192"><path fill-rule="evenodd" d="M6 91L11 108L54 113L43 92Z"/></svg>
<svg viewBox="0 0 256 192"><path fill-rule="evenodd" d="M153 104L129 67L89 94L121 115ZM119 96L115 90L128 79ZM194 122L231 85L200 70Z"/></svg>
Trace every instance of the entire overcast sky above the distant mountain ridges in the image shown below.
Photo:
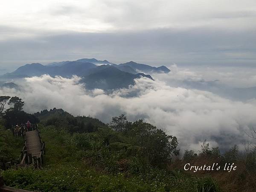
<svg viewBox="0 0 256 192"><path fill-rule="evenodd" d="M78 58L254 66L255 0L3 0L0 71Z"/></svg>

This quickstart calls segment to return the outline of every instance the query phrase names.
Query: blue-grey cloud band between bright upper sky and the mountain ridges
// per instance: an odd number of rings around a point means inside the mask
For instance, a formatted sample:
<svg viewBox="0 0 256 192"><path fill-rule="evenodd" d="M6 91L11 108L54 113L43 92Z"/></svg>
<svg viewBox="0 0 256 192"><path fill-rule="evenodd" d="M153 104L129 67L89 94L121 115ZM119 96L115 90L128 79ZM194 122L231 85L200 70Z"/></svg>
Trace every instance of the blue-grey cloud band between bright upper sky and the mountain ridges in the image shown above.
<svg viewBox="0 0 256 192"><path fill-rule="evenodd" d="M2 41L0 66L11 72L26 63L97 58L117 64L134 60L152 66L177 63L179 66L252 67L256 61L254 34L255 31L223 32L202 28L132 33L36 33L29 38Z"/></svg>

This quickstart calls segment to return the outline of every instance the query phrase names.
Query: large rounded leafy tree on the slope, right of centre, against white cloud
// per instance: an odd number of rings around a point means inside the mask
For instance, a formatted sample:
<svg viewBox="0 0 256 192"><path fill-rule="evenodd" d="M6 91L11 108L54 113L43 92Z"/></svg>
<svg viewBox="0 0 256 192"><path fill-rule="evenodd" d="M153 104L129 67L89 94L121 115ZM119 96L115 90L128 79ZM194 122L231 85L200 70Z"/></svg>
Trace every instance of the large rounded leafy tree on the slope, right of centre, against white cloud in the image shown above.
<svg viewBox="0 0 256 192"><path fill-rule="evenodd" d="M131 145L140 146L140 150L144 157L147 157L152 165L163 166L172 160L172 157L179 154L177 149L177 137L167 135L162 129L143 122L142 119L131 123L127 123L128 133L131 138Z"/></svg>

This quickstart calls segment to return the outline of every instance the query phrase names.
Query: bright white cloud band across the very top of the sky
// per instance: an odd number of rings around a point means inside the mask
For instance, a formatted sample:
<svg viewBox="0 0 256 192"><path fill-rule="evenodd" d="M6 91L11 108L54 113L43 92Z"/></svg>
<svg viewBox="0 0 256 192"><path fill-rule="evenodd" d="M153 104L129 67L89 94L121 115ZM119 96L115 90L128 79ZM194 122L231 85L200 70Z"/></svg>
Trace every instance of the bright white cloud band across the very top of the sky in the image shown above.
<svg viewBox="0 0 256 192"><path fill-rule="evenodd" d="M29 34L194 27L250 30L256 27L255 10L254 0L9 0L1 2L0 23L28 29Z"/></svg>

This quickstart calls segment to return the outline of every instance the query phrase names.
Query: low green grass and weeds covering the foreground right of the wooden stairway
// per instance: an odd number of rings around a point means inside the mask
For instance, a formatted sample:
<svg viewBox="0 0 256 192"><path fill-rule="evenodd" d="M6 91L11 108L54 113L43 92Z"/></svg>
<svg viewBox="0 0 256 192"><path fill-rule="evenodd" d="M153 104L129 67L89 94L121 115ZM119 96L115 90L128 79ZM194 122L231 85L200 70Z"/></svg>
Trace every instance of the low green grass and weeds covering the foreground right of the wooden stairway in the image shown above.
<svg viewBox="0 0 256 192"><path fill-rule="evenodd" d="M41 135L46 143L45 165L42 169L32 166L9 169L2 173L6 184L19 189L42 192L219 192L211 177L191 177L179 170L167 173L154 167L143 174L136 172L109 172L102 164L88 163L86 154L93 153L87 141L79 140L83 149L72 143L72 135L59 131L54 126L40 125ZM70 139L71 138L71 139ZM83 137L81 137L83 138ZM104 152L104 151L103 151ZM101 151L99 155L102 155ZM96 153L97 154L97 153ZM108 157L111 158L108 154ZM105 166L112 166L108 157L102 160ZM102 158L102 157L100 157ZM114 158L113 158L114 159ZM111 159L111 160L113 160ZM111 161L110 160L110 161Z"/></svg>

